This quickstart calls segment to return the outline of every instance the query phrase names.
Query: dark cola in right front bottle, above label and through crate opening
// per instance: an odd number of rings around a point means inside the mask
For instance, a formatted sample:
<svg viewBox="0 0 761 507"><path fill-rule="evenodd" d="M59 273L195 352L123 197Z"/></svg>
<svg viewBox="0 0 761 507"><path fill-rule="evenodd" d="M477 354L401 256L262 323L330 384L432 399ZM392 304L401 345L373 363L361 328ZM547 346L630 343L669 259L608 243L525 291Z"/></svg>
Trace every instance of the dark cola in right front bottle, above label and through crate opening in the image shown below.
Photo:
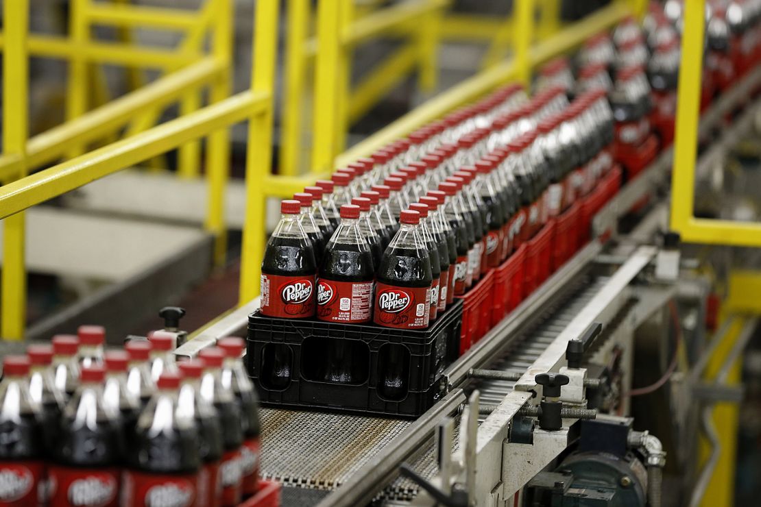
<svg viewBox="0 0 761 507"><path fill-rule="evenodd" d="M377 280L396 287L431 287L431 258L419 258L417 249L392 249L380 261ZM402 347L390 347L386 371L379 372L383 376L380 394L384 398L399 400L409 389L403 352Z"/></svg>

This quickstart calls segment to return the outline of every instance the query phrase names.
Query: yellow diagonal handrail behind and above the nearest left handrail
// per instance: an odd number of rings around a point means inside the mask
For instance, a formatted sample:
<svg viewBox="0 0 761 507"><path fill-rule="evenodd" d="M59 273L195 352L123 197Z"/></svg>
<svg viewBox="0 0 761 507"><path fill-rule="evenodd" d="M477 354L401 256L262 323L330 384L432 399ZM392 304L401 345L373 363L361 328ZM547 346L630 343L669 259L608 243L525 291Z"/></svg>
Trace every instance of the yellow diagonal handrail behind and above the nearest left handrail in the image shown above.
<svg viewBox="0 0 761 507"><path fill-rule="evenodd" d="M205 57L77 119L50 128L27 142L27 166L41 166L62 157L66 147L75 139L88 143L115 132L146 109L161 109L182 97L187 90L209 83L220 71L219 62ZM0 181L12 179L17 170L18 161L13 156L0 157Z"/></svg>

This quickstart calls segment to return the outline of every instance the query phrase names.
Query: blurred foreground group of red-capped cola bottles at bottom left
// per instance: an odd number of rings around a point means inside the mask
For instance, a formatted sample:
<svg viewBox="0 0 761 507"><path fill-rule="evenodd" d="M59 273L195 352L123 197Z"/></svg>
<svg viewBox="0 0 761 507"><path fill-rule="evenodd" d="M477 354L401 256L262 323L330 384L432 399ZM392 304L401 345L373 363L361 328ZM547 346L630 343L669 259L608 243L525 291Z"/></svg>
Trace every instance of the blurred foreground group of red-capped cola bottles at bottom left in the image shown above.
<svg viewBox="0 0 761 507"><path fill-rule="evenodd" d="M105 353L104 336L81 326L5 356L0 503L239 505L261 493L245 342L175 363L174 334Z"/></svg>

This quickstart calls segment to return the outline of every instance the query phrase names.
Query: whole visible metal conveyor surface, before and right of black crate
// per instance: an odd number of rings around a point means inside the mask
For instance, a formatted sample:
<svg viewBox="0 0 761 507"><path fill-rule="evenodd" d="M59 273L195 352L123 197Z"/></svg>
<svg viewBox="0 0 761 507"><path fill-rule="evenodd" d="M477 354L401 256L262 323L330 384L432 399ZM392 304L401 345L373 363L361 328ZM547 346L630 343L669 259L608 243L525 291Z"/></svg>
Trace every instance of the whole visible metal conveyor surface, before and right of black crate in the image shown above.
<svg viewBox="0 0 761 507"><path fill-rule="evenodd" d="M607 277L580 280L580 287L566 303L546 309L543 322L517 338L496 364L489 367L522 372L606 281ZM514 382L479 382L482 402L498 403L513 385ZM409 420L263 408L263 477L279 480L286 486L333 490L410 424ZM435 474L432 438L421 448L413 467L424 477ZM416 494L414 483L397 478L382 496L406 500Z"/></svg>

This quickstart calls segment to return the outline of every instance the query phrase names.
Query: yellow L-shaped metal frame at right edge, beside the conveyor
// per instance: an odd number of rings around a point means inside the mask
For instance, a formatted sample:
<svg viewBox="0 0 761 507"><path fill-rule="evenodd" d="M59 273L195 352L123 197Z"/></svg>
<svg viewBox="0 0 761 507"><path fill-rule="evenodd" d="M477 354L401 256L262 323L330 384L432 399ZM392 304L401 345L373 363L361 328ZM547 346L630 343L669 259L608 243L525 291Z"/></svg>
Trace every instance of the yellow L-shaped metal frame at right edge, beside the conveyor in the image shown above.
<svg viewBox="0 0 761 507"><path fill-rule="evenodd" d="M685 242L761 246L761 223L694 216L705 0L686 0L671 177L671 229Z"/></svg>

